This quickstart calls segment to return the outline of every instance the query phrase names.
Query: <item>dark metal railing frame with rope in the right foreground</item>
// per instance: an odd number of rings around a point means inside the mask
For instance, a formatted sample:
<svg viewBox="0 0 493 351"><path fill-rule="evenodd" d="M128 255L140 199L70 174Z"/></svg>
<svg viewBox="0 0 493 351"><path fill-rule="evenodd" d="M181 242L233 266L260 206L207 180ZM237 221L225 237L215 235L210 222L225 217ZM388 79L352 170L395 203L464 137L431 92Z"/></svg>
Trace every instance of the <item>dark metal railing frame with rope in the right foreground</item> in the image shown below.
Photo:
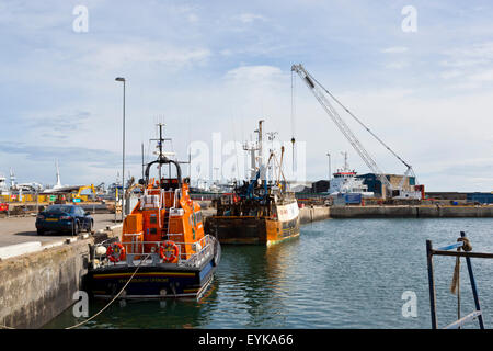
<svg viewBox="0 0 493 351"><path fill-rule="evenodd" d="M456 249L456 251L451 251ZM427 267L428 267L428 286L429 286L429 309L432 314L432 328L438 328L438 321L436 316L436 288L435 288L435 275L433 269L433 257L434 256L451 256L456 257L456 270L452 281L452 286L457 286L457 320L446 326L444 329L460 329L466 322L478 319L479 327L484 329L483 313L481 310L480 301L478 296L478 286L475 284L474 274L472 272L471 258L483 258L493 259L493 253L488 252L472 252L472 247L469 240L466 238L466 233L460 231L460 238L457 242L434 249L431 240L426 240L426 256L427 256ZM469 281L471 283L472 296L474 298L475 310L468 314L465 317L460 316L460 258L466 258L466 263L468 265ZM457 274L457 276L456 276Z"/></svg>

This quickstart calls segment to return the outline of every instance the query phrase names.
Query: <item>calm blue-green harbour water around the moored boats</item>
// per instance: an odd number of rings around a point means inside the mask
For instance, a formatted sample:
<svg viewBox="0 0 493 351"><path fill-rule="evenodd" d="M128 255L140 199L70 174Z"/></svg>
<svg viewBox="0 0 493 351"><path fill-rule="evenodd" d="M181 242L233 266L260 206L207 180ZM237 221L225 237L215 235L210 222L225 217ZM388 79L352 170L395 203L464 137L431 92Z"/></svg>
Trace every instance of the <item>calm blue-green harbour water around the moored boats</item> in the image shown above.
<svg viewBox="0 0 493 351"><path fill-rule="evenodd" d="M223 246L215 282L200 302L115 303L89 328L431 328L425 240L451 244L465 230L474 251L493 252L493 219L329 219L298 239L265 248ZM473 310L466 262L462 316ZM493 327L493 260L473 259L486 328ZM448 291L455 258L436 257L438 324L456 319ZM417 317L402 316L404 291ZM104 302L91 302L90 315ZM78 320L71 308L48 324ZM477 322L470 327L475 328Z"/></svg>

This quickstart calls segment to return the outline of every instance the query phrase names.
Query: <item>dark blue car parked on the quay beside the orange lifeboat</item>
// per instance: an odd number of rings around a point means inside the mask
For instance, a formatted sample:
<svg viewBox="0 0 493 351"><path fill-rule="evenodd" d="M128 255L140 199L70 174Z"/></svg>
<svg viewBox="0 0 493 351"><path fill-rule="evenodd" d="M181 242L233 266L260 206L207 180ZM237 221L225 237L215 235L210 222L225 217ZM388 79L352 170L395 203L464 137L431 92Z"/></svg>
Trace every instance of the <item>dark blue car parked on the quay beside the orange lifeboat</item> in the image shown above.
<svg viewBox="0 0 493 351"><path fill-rule="evenodd" d="M39 212L36 217L38 235L45 231L66 231L78 235L81 230L92 231L94 219L76 205L51 205Z"/></svg>

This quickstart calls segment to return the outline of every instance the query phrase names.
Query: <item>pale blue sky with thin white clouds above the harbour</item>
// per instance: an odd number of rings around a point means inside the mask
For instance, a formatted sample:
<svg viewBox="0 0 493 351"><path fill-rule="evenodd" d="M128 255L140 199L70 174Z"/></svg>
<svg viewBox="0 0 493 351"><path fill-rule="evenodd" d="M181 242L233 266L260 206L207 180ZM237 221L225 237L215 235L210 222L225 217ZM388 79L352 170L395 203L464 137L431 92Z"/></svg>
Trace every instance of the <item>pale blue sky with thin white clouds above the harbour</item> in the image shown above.
<svg viewBox="0 0 493 351"><path fill-rule="evenodd" d="M326 179L328 152L332 171L347 151L369 172L291 75L302 64L427 191L490 192L492 18L491 1L1 0L0 173L53 184L58 160L64 184L114 182L116 77L127 80L126 169L136 178L157 122L186 160L191 143L211 150L217 133L223 144L251 139L260 118L279 141L305 145L306 180ZM383 172L405 171L340 114Z"/></svg>

